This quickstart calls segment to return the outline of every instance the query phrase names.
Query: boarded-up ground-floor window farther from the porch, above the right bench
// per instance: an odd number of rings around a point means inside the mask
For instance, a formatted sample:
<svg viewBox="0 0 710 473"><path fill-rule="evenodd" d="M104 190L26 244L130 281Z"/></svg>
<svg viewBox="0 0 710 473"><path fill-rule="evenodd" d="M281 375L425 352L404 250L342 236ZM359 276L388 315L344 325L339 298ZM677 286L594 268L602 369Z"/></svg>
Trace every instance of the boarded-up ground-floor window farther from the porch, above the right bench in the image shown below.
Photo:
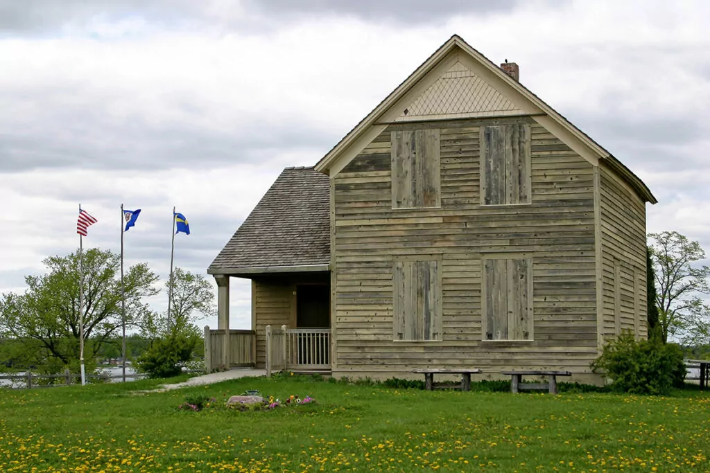
<svg viewBox="0 0 710 473"><path fill-rule="evenodd" d="M532 340L532 260L484 267L484 340Z"/></svg>

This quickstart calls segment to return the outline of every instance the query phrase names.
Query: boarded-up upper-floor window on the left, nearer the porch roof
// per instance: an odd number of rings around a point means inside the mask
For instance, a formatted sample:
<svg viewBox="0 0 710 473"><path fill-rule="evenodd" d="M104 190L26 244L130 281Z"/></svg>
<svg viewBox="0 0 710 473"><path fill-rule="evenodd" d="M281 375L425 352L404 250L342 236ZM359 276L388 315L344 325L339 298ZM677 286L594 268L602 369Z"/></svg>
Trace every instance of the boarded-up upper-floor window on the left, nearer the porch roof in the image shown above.
<svg viewBox="0 0 710 473"><path fill-rule="evenodd" d="M439 130L392 132L392 208L441 206Z"/></svg>

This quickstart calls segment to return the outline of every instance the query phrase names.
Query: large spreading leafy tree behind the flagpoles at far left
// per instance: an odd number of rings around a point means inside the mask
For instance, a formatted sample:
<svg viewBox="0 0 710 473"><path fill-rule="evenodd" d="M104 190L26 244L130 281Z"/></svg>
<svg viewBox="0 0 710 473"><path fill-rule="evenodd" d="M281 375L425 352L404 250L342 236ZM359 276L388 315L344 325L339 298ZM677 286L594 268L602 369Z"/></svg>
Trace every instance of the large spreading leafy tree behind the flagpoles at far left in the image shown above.
<svg viewBox="0 0 710 473"><path fill-rule="evenodd" d="M48 372L78 368L80 357L80 255L48 257L48 272L28 276L24 294L3 294L0 336L14 338L35 351ZM121 330L120 256L92 248L84 252L84 359L87 369L97 352ZM137 328L151 311L143 298L159 289L158 277L145 263L124 273L126 325ZM148 317L149 318L149 317Z"/></svg>

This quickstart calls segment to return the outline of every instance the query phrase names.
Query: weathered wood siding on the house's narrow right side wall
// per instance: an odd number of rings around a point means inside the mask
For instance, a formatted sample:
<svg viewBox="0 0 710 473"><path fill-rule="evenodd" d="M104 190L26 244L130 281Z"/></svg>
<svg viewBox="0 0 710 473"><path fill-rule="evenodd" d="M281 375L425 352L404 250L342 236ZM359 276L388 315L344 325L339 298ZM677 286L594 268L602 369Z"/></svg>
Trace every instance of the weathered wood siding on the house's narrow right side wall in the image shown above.
<svg viewBox="0 0 710 473"><path fill-rule="evenodd" d="M610 169L599 167L601 336L629 330L648 336L646 321L646 208Z"/></svg>

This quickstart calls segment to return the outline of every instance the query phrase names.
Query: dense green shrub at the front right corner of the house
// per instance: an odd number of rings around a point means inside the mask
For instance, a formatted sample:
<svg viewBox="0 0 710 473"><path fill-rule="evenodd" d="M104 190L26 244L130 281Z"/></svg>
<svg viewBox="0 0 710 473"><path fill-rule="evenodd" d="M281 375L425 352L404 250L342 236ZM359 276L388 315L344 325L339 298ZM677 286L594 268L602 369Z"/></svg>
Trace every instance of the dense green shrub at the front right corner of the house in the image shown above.
<svg viewBox="0 0 710 473"><path fill-rule="evenodd" d="M592 363L611 378L613 391L633 394L668 394L685 378L683 352L678 345L657 340L636 341L630 333L604 346Z"/></svg>

